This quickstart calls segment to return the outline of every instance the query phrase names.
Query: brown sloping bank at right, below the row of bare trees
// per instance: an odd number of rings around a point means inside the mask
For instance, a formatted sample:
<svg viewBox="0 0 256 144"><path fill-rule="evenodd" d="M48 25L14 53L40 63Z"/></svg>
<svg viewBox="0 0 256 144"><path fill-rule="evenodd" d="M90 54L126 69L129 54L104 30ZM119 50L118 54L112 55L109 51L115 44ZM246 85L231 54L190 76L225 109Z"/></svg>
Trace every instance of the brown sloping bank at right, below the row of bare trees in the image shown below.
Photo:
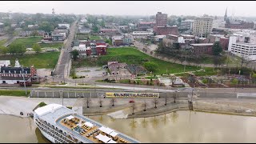
<svg viewBox="0 0 256 144"><path fill-rule="evenodd" d="M197 100L193 102L193 110L206 113L234 114L256 117L256 104L254 101L255 100L244 102L242 99L237 99L237 101L223 101L223 99ZM169 114L178 110L189 110L188 102L186 100L177 101L176 103L171 102L167 104L167 106L158 106L157 109L151 108L146 111L141 110L134 114L128 114L127 118L154 117Z"/></svg>

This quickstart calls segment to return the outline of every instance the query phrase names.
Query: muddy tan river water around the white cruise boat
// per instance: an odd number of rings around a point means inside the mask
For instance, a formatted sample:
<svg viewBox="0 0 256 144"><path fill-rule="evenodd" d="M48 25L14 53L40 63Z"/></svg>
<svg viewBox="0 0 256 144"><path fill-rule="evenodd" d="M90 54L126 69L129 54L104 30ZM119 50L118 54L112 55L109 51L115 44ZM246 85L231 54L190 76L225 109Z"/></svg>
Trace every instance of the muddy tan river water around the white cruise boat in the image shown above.
<svg viewBox="0 0 256 144"><path fill-rule="evenodd" d="M90 118L140 142L256 142L256 117L178 111L151 118ZM0 114L0 142L49 142L31 118Z"/></svg>

